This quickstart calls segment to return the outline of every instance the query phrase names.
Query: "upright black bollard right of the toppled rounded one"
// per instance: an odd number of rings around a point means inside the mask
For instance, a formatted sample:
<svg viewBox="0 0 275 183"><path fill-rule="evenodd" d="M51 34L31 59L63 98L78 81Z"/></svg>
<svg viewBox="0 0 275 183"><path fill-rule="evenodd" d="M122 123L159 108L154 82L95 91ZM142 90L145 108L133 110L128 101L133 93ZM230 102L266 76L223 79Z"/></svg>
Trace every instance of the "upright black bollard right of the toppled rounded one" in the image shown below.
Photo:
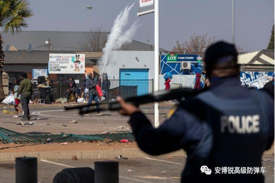
<svg viewBox="0 0 275 183"><path fill-rule="evenodd" d="M94 163L95 183L119 183L119 163L115 161L96 161Z"/></svg>

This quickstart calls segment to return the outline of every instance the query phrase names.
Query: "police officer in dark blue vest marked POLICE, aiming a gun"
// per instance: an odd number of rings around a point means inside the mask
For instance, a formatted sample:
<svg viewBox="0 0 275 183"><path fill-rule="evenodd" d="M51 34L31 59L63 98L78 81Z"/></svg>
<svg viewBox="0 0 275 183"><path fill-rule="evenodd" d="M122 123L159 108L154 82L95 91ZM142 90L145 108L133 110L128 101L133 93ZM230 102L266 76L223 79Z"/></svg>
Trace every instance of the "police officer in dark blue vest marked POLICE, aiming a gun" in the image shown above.
<svg viewBox="0 0 275 183"><path fill-rule="evenodd" d="M186 151L182 183L264 183L261 173L232 174L226 170L221 174L215 168L262 166L262 154L274 141L274 101L266 92L241 87L234 45L211 45L205 63L211 82L208 91L181 102L159 128L154 128L137 107L118 98L120 114L131 116L130 124L144 152ZM211 170L207 170L210 175L202 166Z"/></svg>

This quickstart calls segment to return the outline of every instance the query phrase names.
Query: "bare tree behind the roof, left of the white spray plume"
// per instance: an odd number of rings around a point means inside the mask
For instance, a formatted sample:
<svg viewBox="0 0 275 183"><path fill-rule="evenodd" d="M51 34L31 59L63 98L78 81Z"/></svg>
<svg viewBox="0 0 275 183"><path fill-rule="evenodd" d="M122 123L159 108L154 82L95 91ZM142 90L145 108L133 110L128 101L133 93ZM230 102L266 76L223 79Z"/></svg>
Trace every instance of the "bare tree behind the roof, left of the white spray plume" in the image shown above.
<svg viewBox="0 0 275 183"><path fill-rule="evenodd" d="M80 48L86 52L102 52L107 42L107 37L108 33L102 30L102 26L96 27L80 43Z"/></svg>

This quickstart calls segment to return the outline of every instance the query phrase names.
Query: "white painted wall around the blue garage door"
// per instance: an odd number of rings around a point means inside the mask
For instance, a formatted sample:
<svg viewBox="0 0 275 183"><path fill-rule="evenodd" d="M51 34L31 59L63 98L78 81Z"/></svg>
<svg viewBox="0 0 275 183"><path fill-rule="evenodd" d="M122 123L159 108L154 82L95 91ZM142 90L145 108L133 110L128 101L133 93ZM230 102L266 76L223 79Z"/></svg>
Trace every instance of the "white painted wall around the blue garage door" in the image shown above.
<svg viewBox="0 0 275 183"><path fill-rule="evenodd" d="M137 57L137 59L136 59ZM109 79L119 79L120 68L149 69L149 79L154 77L154 52L150 51L113 51L105 71Z"/></svg>

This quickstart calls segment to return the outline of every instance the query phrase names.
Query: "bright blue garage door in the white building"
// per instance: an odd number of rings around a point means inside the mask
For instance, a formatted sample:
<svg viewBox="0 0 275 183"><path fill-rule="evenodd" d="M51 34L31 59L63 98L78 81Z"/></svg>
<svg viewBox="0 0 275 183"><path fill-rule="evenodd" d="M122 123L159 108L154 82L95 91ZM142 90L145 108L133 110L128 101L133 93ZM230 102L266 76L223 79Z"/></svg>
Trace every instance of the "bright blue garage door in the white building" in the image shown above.
<svg viewBox="0 0 275 183"><path fill-rule="evenodd" d="M137 86L137 95L148 94L148 70L143 68L121 68L120 85Z"/></svg>

